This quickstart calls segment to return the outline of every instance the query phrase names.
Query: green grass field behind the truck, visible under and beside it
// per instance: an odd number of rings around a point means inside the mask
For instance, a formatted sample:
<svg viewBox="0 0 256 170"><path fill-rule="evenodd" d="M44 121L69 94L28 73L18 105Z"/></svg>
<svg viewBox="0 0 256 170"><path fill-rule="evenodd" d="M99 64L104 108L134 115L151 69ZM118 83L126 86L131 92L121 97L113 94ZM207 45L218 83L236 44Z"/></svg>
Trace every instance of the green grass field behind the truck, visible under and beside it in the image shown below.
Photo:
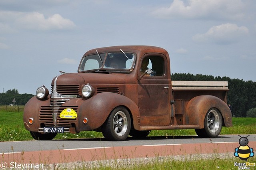
<svg viewBox="0 0 256 170"><path fill-rule="evenodd" d="M1 107L0 107L1 108ZM22 108L22 107L21 107ZM24 107L23 107L24 108ZM233 118L233 127L223 127L221 134L256 134L256 118ZM152 130L149 136L183 136L196 135L194 129L186 130ZM78 134L58 134L54 139L101 138L101 132L80 132ZM0 141L33 140L23 124L23 111L0 110Z"/></svg>

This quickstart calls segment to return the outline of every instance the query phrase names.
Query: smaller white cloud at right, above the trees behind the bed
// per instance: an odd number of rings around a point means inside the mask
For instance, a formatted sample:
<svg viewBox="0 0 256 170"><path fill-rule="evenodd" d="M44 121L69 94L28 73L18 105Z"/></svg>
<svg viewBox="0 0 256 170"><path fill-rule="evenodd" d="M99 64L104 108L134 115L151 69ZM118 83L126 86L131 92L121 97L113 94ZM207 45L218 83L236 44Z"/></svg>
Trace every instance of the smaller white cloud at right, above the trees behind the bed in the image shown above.
<svg viewBox="0 0 256 170"><path fill-rule="evenodd" d="M236 43L248 35L248 28L236 24L222 24L213 26L204 34L196 34L193 40L196 42L214 42L220 44Z"/></svg>

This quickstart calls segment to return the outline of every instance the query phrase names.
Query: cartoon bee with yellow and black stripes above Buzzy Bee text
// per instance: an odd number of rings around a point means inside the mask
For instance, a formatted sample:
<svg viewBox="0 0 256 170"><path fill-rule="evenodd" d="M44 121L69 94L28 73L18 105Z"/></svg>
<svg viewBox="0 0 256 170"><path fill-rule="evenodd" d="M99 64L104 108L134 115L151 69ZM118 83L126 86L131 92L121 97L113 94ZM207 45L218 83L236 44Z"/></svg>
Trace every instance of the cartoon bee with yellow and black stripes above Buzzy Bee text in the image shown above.
<svg viewBox="0 0 256 170"><path fill-rule="evenodd" d="M249 143L249 140L247 138L248 136L246 137L240 136L240 139L239 139L240 146L238 148L235 148L236 152L234 152L234 156L239 157L241 160L245 160L245 161L247 161L249 157L254 156L253 148L250 148L248 146L248 143Z"/></svg>

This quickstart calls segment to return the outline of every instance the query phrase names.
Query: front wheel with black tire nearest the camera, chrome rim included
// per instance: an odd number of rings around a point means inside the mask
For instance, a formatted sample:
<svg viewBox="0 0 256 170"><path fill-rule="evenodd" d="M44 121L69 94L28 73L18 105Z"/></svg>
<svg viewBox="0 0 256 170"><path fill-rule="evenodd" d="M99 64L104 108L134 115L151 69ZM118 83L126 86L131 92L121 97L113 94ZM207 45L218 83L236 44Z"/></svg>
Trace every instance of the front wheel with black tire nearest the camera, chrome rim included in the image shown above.
<svg viewBox="0 0 256 170"><path fill-rule="evenodd" d="M131 129L130 114L124 107L116 107L102 125L102 134L107 140L126 140Z"/></svg>

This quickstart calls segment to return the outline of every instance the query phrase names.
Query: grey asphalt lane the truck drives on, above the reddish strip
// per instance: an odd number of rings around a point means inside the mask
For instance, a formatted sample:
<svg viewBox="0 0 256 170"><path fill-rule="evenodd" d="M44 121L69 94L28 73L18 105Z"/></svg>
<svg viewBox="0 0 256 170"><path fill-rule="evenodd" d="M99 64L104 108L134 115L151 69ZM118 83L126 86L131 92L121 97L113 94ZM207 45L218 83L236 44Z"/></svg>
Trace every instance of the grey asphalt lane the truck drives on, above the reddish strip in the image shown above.
<svg viewBox="0 0 256 170"><path fill-rule="evenodd" d="M240 136L248 136L246 134ZM239 141L238 135L220 135L218 138L198 138L198 136L154 136L135 139L132 137L122 142L106 141L104 138L66 139L48 141L15 141L0 142L1 153L30 152L42 150L65 150L81 148L104 148L117 146L142 146L142 145L175 145L175 144L204 144L204 143L232 143ZM256 141L256 134L248 136L250 141ZM238 144L239 145L239 144Z"/></svg>

